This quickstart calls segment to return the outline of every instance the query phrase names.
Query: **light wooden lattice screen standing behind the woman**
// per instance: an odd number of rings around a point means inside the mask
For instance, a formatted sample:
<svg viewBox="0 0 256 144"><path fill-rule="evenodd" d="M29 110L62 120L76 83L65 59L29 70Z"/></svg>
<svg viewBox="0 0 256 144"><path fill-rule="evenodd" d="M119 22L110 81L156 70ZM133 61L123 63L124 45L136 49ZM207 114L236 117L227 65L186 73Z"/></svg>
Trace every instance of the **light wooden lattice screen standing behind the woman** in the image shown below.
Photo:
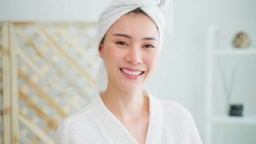
<svg viewBox="0 0 256 144"><path fill-rule="evenodd" d="M95 23L7 23L9 38L13 39L15 65L9 76L12 85L7 91L13 107L9 128L0 119L0 138L10 130L12 143L55 143L55 131L61 120L88 104L94 93L98 67ZM2 27L2 41L3 32ZM15 42L15 43L14 43ZM3 42L0 41L0 44ZM3 50L1 51L3 53ZM11 53L9 53L11 54ZM2 55L0 55L1 57ZM10 56L11 57L11 56ZM14 63L16 62L16 63ZM0 68L4 63L1 58ZM13 65L11 65L13 64ZM16 74L16 79L15 77ZM1 73L3 75L3 73ZM2 78L2 76L1 76ZM0 94L3 98L0 79ZM10 85L10 84L8 84ZM12 90L11 90L12 88ZM3 103L0 101L0 103ZM5 102L4 102L5 103ZM4 105L4 104L3 104ZM0 106L2 111L2 104ZM1 116L3 112L1 112ZM15 115L16 114L16 115ZM19 121L15 121L19 119ZM16 122L16 123L15 123ZM18 127L18 128L16 128ZM15 134L15 128L18 132ZM8 134L5 134L8 135ZM15 136L16 135L16 136ZM1 143L1 141L0 141Z"/></svg>

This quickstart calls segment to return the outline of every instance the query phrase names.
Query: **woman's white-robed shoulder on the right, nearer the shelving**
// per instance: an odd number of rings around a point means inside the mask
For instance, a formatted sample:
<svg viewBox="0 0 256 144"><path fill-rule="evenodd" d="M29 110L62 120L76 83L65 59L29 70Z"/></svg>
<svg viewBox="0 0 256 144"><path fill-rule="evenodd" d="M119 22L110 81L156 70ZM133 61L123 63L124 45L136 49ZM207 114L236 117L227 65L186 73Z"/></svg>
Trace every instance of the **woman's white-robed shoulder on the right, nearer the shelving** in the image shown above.
<svg viewBox="0 0 256 144"><path fill-rule="evenodd" d="M164 135L178 143L202 143L191 113L175 101L160 100Z"/></svg>

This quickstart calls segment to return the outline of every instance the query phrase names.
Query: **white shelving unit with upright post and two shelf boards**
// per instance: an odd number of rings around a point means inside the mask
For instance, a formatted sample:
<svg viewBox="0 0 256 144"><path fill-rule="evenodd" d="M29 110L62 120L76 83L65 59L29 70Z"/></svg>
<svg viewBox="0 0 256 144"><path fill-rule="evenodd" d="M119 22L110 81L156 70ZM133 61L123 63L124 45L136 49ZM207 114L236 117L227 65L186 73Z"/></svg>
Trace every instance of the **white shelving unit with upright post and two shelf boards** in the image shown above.
<svg viewBox="0 0 256 144"><path fill-rule="evenodd" d="M211 27L208 32L208 45L207 45L207 55L206 55L206 125L205 125L205 143L213 144L213 124L252 124L256 125L256 116L243 116L234 117L226 115L216 115L213 113L213 80L214 80L214 63L217 62L217 57L226 56L255 56L256 49L218 49L218 29L216 27ZM222 134L222 131L220 131ZM256 134L256 130L255 130Z"/></svg>

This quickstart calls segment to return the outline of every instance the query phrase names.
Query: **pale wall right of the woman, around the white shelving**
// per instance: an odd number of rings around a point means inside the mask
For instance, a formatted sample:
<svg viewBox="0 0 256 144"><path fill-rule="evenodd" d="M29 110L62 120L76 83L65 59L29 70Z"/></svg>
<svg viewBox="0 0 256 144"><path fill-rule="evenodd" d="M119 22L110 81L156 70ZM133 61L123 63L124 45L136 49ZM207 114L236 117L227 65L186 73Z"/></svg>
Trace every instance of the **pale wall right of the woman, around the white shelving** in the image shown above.
<svg viewBox="0 0 256 144"><path fill-rule="evenodd" d="M220 45L224 48L231 47L234 32L246 31L252 40L251 47L256 49L256 17L254 15L256 1L174 0L173 4L174 34L166 38L159 69L149 83L149 87L157 97L176 100L185 106L194 116L200 134L203 136L207 28L211 25L220 28L222 34ZM254 70L247 71L248 74L241 74L245 79L250 79L249 76L253 76L251 77L253 80L256 79L255 63L254 58L254 67L251 68ZM255 91L254 93L243 91L243 93L254 98L248 101L256 101ZM253 105L255 110L255 104ZM247 130L246 133L252 133L252 131Z"/></svg>

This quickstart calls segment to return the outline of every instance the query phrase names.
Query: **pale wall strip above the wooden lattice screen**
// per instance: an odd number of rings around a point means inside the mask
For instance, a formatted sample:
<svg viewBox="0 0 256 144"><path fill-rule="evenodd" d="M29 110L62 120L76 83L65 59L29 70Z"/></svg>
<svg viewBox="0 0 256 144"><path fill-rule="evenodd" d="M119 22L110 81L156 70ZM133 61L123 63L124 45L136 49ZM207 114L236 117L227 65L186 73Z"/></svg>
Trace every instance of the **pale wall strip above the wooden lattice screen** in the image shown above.
<svg viewBox="0 0 256 144"><path fill-rule="evenodd" d="M110 0L0 0L0 21L97 21Z"/></svg>

